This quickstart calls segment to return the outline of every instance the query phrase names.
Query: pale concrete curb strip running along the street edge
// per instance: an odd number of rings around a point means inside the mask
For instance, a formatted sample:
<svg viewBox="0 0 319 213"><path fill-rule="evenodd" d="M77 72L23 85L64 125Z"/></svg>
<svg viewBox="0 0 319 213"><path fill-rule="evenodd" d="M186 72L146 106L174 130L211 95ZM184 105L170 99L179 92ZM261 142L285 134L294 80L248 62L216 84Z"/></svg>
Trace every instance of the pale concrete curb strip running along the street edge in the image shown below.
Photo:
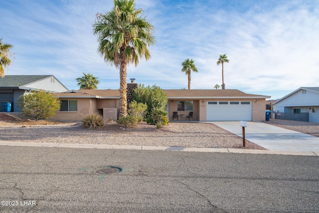
<svg viewBox="0 0 319 213"><path fill-rule="evenodd" d="M190 147L155 147L155 146L120 146L104 144L56 144L56 143L34 143L34 142L13 142L0 141L0 146L23 146L23 147L61 147L81 149L125 149L125 150L162 150L162 151L183 151L183 152L219 152L219 153L243 153L243 154L270 154L270 155L303 155L319 156L319 152L299 151L276 151L276 150L248 150L230 148L190 148Z"/></svg>

